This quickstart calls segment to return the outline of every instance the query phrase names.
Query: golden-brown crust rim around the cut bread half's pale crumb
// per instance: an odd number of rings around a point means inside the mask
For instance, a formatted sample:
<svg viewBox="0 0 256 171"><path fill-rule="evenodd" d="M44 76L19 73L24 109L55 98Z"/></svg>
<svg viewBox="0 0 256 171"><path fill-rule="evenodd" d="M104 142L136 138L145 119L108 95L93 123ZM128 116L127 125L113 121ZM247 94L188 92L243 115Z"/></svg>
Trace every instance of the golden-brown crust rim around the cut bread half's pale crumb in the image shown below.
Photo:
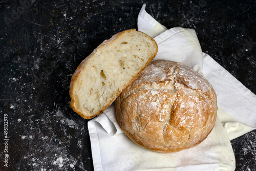
<svg viewBox="0 0 256 171"><path fill-rule="evenodd" d="M150 63L154 57L156 56L157 52L158 52L158 47L157 47L157 43L156 41L146 35L145 33L143 32L140 32L140 33L143 33L145 34L145 36L147 36L148 38L150 38L154 43L155 43L155 46L156 46L156 51L155 53L149 58L149 60L146 62L146 64L140 68L140 70L138 70L138 73L136 75L134 75L134 77L126 84L124 84L122 87L118 88L117 92L116 92L116 95L111 98L111 99L108 99L108 104L105 105L101 110L99 110L96 114L92 115L92 116L87 116L86 114L80 112L78 109L76 109L76 106L75 106L75 97L74 97L74 94L75 94L75 91L73 89L73 87L75 86L75 84L77 83L77 80L78 80L78 77L81 75L81 72L87 67L87 64L90 62L91 59L94 58L96 52L100 49L100 48L104 48L106 45L109 45L109 44L113 44L113 42L118 39L119 36L121 35L125 35L127 33L130 33L130 32L139 32L139 31L136 31L136 29L131 29L131 30L125 30L125 31L122 31L122 32L119 32L115 35L113 35L110 39L108 40L104 40L88 57L86 57L84 60L81 61L80 65L77 67L77 69L75 70L74 74L72 75L72 78L71 78L71 83L70 83L70 91L69 91L69 94L70 94L70 97L71 97L71 101L70 101L70 106L72 108L72 110L74 112L76 112L77 114L79 114L82 118L84 119L91 119L99 114L101 114L106 108L108 108L108 106L116 99L116 97L121 93L121 91L126 87L128 86L137 76L139 73L141 73L143 71L143 69L148 65L148 63Z"/></svg>

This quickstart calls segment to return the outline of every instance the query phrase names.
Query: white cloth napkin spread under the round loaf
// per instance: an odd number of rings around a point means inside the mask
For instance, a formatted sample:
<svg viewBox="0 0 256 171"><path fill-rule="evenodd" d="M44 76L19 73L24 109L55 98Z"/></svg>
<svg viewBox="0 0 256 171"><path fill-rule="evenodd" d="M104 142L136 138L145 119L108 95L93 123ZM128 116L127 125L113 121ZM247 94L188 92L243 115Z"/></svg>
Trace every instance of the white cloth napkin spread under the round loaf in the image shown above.
<svg viewBox="0 0 256 171"><path fill-rule="evenodd" d="M218 100L218 118L209 136L199 145L176 153L148 151L132 142L120 129L111 104L88 122L94 169L97 170L234 170L230 140L256 129L256 95L209 55L202 53L195 30L167 30L145 5L138 16L138 30L158 43L155 59L169 59L204 75Z"/></svg>

